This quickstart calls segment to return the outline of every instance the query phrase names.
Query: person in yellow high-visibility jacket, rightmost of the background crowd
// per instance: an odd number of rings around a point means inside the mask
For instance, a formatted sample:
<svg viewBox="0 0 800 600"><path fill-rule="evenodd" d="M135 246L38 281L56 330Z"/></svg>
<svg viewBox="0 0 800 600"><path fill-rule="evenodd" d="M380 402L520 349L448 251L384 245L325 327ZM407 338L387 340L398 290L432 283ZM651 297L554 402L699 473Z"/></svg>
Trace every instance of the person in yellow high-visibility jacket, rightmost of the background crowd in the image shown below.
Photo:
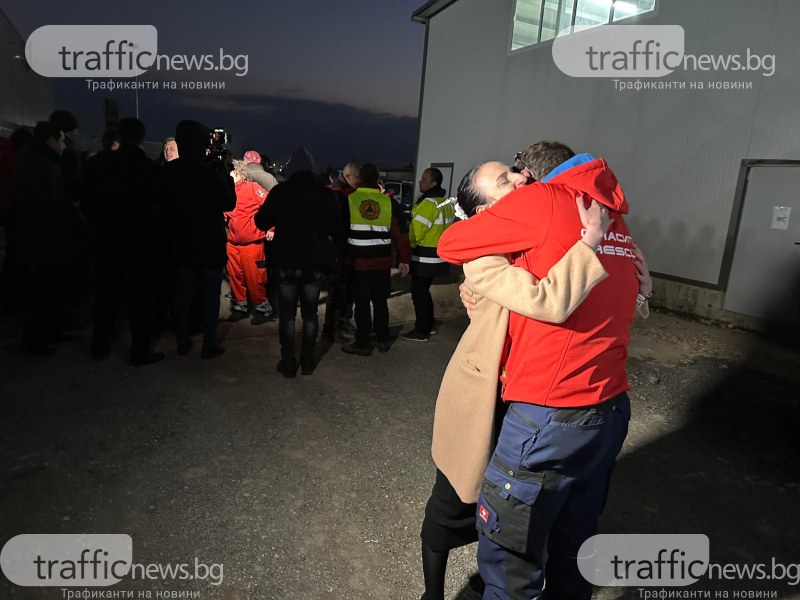
<svg viewBox="0 0 800 600"><path fill-rule="evenodd" d="M411 210L408 237L411 242L411 301L414 303L416 321L414 329L402 334L404 340L427 342L434 333L433 279L447 275L447 262L439 258L436 246L444 231L456 218L455 208L442 189L442 172L431 167L419 179L422 193Z"/></svg>

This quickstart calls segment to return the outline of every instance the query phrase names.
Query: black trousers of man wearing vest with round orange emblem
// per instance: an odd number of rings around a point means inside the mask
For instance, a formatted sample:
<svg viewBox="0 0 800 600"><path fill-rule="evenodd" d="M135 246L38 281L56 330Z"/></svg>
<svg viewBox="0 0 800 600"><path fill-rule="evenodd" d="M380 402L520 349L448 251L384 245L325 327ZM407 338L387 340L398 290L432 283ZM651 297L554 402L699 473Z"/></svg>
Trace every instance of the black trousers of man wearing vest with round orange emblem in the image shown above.
<svg viewBox="0 0 800 600"><path fill-rule="evenodd" d="M389 269L356 271L353 277L356 343L368 344L371 330L378 342L390 341L389 333Z"/></svg>

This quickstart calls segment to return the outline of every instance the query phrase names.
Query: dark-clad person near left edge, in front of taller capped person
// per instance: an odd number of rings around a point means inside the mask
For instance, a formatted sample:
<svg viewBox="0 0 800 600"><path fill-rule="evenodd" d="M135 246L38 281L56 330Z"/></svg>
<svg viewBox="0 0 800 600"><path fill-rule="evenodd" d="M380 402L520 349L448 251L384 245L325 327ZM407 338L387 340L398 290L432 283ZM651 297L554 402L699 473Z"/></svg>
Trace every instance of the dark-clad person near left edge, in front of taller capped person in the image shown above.
<svg viewBox="0 0 800 600"><path fill-rule="evenodd" d="M64 132L40 121L15 172L19 260L27 279L21 350L32 356L54 354L49 344L67 337L59 331L52 308L54 295L68 286L77 259L79 216L73 214L64 190L64 147Z"/></svg>

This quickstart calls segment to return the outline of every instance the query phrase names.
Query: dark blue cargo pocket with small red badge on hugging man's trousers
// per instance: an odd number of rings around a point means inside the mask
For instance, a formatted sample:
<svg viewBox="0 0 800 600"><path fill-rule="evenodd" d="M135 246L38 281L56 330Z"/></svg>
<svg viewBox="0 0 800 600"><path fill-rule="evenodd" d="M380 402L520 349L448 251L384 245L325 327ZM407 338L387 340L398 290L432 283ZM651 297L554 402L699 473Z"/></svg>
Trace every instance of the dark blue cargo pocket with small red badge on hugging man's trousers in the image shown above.
<svg viewBox="0 0 800 600"><path fill-rule="evenodd" d="M503 548L527 552L531 513L543 480L543 473L511 469L492 458L478 498L478 531Z"/></svg>

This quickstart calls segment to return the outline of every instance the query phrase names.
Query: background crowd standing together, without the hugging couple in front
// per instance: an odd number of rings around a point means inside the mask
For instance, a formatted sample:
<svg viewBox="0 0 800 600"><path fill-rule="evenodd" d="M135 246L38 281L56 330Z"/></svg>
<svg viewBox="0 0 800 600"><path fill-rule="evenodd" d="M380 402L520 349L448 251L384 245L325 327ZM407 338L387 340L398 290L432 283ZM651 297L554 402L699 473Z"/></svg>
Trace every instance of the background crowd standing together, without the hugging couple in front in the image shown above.
<svg viewBox="0 0 800 600"><path fill-rule="evenodd" d="M240 160L220 160L209 148L211 132L195 121L180 122L160 160L153 161L143 150L145 126L134 118L116 123L103 136L103 150L82 160L74 142L77 127L71 113L55 111L32 132L15 132L8 145L3 294L6 300L32 298L18 307L27 313L24 353L51 355L53 344L73 339L59 311L45 305L53 285L75 288L86 257L95 284L95 360L111 351L121 304L129 315L132 365L164 358L153 350L154 334L164 327L173 329L179 355L191 352L198 330L201 357L221 355L223 274L231 288L231 322L252 315L250 322L262 325L278 314L277 371L286 377L298 369L314 371L317 309L326 287L322 339L341 344L348 354L389 350L394 267L401 276L411 271L418 312L416 327L404 337L427 339L434 332L429 288L437 268L445 266L436 244L453 222L438 170L423 173L420 210L409 229L371 163L349 163L325 186L316 178L313 157L300 147L279 183L266 168L268 159L254 150ZM63 308L68 316L68 301Z"/></svg>

